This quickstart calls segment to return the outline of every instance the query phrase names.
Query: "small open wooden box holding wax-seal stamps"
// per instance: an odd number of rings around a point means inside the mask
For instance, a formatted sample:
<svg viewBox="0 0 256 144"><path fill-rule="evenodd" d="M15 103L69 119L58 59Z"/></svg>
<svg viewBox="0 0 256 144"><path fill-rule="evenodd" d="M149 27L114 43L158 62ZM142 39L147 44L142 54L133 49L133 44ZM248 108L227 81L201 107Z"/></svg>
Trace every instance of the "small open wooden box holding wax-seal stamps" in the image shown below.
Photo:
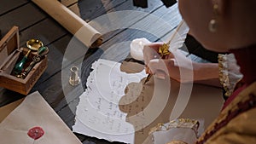
<svg viewBox="0 0 256 144"><path fill-rule="evenodd" d="M20 61L29 49L20 48L19 29L14 26L0 41L0 87L10 89L23 95L27 95L38 78L48 66L47 55L32 66L26 78L17 78L13 69L17 61ZM37 53L31 52L26 60L24 68L30 65L32 58Z"/></svg>

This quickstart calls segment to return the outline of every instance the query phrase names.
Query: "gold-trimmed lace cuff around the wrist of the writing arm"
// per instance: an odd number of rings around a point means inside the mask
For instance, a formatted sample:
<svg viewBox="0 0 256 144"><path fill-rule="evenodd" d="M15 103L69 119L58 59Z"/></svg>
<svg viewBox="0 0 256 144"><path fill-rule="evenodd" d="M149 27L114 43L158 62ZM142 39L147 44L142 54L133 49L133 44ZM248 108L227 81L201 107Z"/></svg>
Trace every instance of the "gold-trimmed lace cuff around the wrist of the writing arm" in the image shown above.
<svg viewBox="0 0 256 144"><path fill-rule="evenodd" d="M224 96L230 96L236 87L237 82L242 78L240 66L236 64L235 55L218 55L219 80L225 93Z"/></svg>

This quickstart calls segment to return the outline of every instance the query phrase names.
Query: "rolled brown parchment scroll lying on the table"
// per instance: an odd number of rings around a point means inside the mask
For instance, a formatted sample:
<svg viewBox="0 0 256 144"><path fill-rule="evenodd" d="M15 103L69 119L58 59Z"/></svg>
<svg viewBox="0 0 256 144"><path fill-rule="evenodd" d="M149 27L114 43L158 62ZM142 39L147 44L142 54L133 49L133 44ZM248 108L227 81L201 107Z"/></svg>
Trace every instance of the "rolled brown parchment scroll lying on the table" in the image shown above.
<svg viewBox="0 0 256 144"><path fill-rule="evenodd" d="M85 46L96 48L102 44L102 34L62 3L57 0L32 0L32 2L44 9L47 14L77 37Z"/></svg>

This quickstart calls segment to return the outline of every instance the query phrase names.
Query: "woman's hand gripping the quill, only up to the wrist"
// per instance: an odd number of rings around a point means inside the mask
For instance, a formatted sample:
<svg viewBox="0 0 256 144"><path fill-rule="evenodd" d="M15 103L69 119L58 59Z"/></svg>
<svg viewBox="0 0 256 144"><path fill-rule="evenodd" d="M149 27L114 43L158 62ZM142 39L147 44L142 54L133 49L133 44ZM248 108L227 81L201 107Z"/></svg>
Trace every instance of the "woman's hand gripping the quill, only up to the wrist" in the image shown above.
<svg viewBox="0 0 256 144"><path fill-rule="evenodd" d="M189 60L181 50L172 51L170 55L160 58L158 49L163 43L150 43L144 46L143 55L146 72L154 74L157 78L169 76L178 82L193 82L194 62Z"/></svg>

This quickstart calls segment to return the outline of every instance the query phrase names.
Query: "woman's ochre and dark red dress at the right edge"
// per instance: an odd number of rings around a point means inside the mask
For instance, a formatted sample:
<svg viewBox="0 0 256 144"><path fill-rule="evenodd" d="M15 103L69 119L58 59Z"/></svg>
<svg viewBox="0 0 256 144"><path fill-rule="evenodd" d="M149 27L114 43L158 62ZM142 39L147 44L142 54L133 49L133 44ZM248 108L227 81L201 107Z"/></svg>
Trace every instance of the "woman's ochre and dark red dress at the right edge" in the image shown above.
<svg viewBox="0 0 256 144"><path fill-rule="evenodd" d="M256 45L230 52L241 68L243 85L225 101L222 112L197 144L256 143Z"/></svg>

